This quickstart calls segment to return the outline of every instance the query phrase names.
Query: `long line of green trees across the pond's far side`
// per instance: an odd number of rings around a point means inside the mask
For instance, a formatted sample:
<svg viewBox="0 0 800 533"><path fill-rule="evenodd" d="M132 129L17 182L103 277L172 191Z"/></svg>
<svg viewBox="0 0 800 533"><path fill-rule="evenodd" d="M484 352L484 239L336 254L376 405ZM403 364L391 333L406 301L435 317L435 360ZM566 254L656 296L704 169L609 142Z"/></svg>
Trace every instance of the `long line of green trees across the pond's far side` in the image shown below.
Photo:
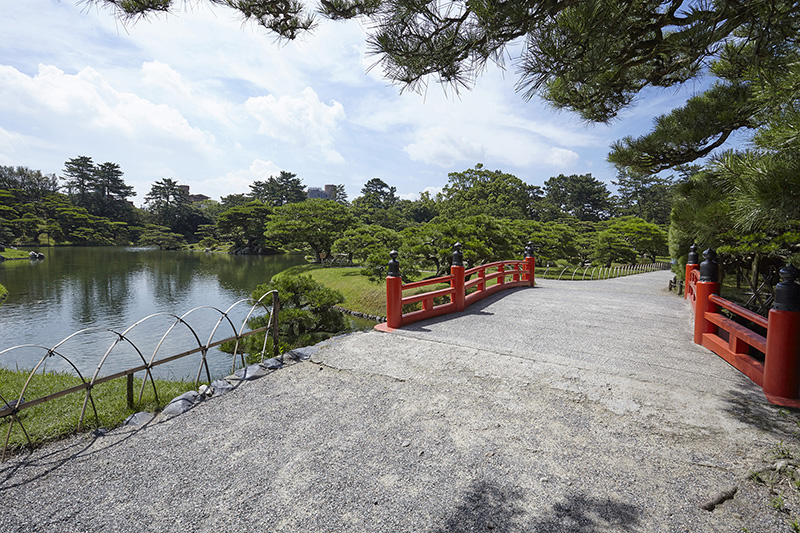
<svg viewBox="0 0 800 533"><path fill-rule="evenodd" d="M67 161L59 178L25 167L0 167L0 241L76 245L186 243L238 253L333 254L382 275L391 249L408 272L445 272L452 245L479 264L519 255L532 240L541 261L609 264L655 260L666 253L673 178L620 174L612 195L591 174L551 177L542 187L478 164L451 173L436 195L401 199L380 178L348 201L307 199L296 174L254 181L248 194L192 202L172 178L153 183L142 209L115 163Z"/></svg>

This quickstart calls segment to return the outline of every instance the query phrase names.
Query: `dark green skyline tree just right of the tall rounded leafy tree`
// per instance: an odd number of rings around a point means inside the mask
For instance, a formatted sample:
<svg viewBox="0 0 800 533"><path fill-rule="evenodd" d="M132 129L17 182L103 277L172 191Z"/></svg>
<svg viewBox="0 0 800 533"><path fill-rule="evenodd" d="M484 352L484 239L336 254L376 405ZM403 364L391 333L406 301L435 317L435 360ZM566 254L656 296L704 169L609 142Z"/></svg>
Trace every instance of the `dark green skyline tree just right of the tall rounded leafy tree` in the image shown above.
<svg viewBox="0 0 800 533"><path fill-rule="evenodd" d="M544 198L560 212L582 221L609 217L610 193L606 185L591 174L559 174L544 182Z"/></svg>

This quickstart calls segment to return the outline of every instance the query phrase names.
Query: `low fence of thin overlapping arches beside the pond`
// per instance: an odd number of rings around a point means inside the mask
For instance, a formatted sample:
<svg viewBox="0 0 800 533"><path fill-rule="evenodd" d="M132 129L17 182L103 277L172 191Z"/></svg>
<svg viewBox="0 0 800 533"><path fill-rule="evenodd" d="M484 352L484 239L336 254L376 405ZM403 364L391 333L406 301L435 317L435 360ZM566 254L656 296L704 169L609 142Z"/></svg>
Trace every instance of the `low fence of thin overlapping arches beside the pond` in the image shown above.
<svg viewBox="0 0 800 533"><path fill-rule="evenodd" d="M267 302L268 299L271 299L271 302ZM144 372L145 375L144 375L144 379L142 379L141 389L139 390L139 399L138 399L138 401L139 402L142 401L142 397L143 397L144 390L145 390L145 387L147 385L147 380L148 379L150 380L150 383L151 383L151 385L153 387L153 394L155 396L155 399L156 399L156 401L158 401L158 389L156 387L156 381L153 378L153 374L151 372L152 368L160 366L160 365L163 365L163 364L166 364L166 363L169 363L169 362L172 362L172 361L176 361L178 359L181 359L181 358L193 355L193 354L199 353L200 354L200 362L199 362L198 369L197 369L197 376L195 378L195 385L197 385L200 382L200 376L203 373L203 369L205 369L206 378L210 382L211 381L211 372L209 370L208 361L207 361L207 355L208 355L208 350L209 349L217 347L217 346L219 346L221 344L224 344L224 343L234 342L235 341L234 349L233 349L233 356L232 356L232 361L231 361L231 372L233 372L233 371L236 370L236 356L237 356L237 354L239 354L239 356L240 356L242 366L245 365L244 353L239 353L240 352L239 346L240 346L241 340L246 338L246 337L249 337L251 335L255 335L257 333L261 333L261 332L264 332L264 331L269 331L270 334L271 334L272 348L273 348L273 350L272 350L273 354L272 355L273 355L273 357L279 357L281 359L281 362L283 362L283 360L282 360L283 356L282 355L279 356L279 347L278 347L278 311L280 309L280 300L278 298L278 291L269 291L269 292L265 293L264 295L262 295L261 298L259 298L257 301L255 301L252 304L252 306L250 307L250 310L247 313L247 315L245 316L245 318L242 320L241 326L239 326L239 328L237 330L235 325L234 325L234 323L233 323L233 321L231 320L230 314L231 314L232 311L234 311L234 309L236 309L238 306L240 306L241 304L243 304L245 302L253 302L253 300L251 300L251 299L239 300L239 301L233 303L230 307L228 307L224 311L221 310L221 309L218 309L216 307L213 307L213 306L200 306L200 307L195 307L194 309L191 309L190 311L187 311L186 313L184 313L181 316L174 315L172 313L154 313L152 315L149 315L149 316L137 321L136 323L134 323L133 325L129 326L127 329L125 329L122 332L116 331L114 329L102 328L102 327L86 328L86 329L82 329L80 331L76 331L75 333L72 333L71 335L67 336L66 338L64 338L63 340L58 342L52 348L47 348L45 346L40 346L40 345L36 345L36 344L22 344L22 345L18 345L18 346L12 346L11 348L7 348L5 350L0 351L0 356L2 356L3 354L6 354L6 353L12 352L14 350L19 350L19 349L23 349L23 348L34 348L34 349L40 349L40 350L44 351L44 355L42 355L42 357L39 359L38 363L34 366L33 370L31 370L31 372L28 375L28 378L25 381L25 384L23 385L22 389L20 390L19 396L16 398L16 400L15 399L11 399L9 401L9 400L6 400L6 398L4 398L2 395L0 395L0 406L2 406L0 408L0 422L5 421L4 420L5 418L10 417L10 423L9 423L9 426L8 426L8 431L6 433L5 441L3 443L2 459L0 459L0 460L5 460L6 448L8 446L8 442L9 442L9 439L11 437L11 431L12 431L12 429L14 427L14 424L19 424L20 428L22 429L22 432L25 434L25 438L28 440L28 444L29 445L32 444L31 439L28 436L28 432L25 430L25 426L22 423L22 421L20 420L18 414L21 411L25 410L25 409L29 409L31 407L35 407L37 405L40 405L42 403L45 403L45 402L48 402L48 401L51 401L51 400L55 400L57 398L61 398L62 396L66 396L68 394L78 393L78 392L81 392L81 391L85 391L86 392L86 397L84 398L83 407L81 409L80 418L78 420L78 429L80 430L80 428L83 426L84 418L85 418L85 415L86 415L86 409L88 408L89 404L91 404L92 411L94 412L95 420L99 424L100 419L99 419L99 416L97 414L97 408L95 406L94 398L92 397L92 389L96 385L99 385L101 383L105 383L107 381L112 381L112 380L115 380L115 379L119 379L119 378L125 377L127 379L127 387L126 387L127 401L128 401L128 405L130 406L130 405L133 405L133 378L134 378L134 374L136 374L137 372ZM269 306L268 303L271 303L271 306ZM263 327L260 327L260 328L256 328L256 329L250 330L250 331L245 331L245 327L247 326L247 322L253 316L253 313L256 311L256 309L260 309L260 308L263 308L267 312L267 314L269 316L269 320L267 322L267 325L263 326ZM189 317L190 315L192 315L193 313L195 313L196 311L198 311L200 309L211 309L213 311L216 311L219 314L219 318L217 319L216 324L214 325L213 329L211 330L211 333L208 336L208 339L205 342L203 342L200 339L200 336L198 335L196 328L192 327L189 324L189 322L187 321L187 317ZM150 355L149 358L146 358L145 355L142 353L142 350L139 349L139 347L136 345L136 343L131 339L131 332L133 332L134 329L142 326L143 324L148 323L152 319L155 319L156 317L164 317L164 316L173 318L174 322L172 323L172 325L169 326L169 328L166 330L166 332L161 336L161 338L159 339L158 344L156 345L155 350L153 351L152 355ZM223 324L227 324L227 327L230 328L230 331L232 332L232 335L227 337L227 338L225 338L225 339L222 339L222 340L214 340L214 336L216 335L217 330ZM177 354L173 354L173 355L169 355L169 356L164 357L162 359L156 359L156 356L158 355L158 352L161 350L162 346L164 345L165 339L173 331L175 331L176 327L178 327L178 326L182 326L183 328L188 330L188 332L194 338L194 341L197 343L197 346L192 348L192 349L190 349L190 350L187 350L187 351L184 351L184 352L180 352L180 353L177 353ZM108 349L103 354L102 358L100 359L100 362L97 364L97 368L95 369L92 377L90 379L86 379L86 377L80 372L80 370L75 365L75 363L73 361L71 361L70 358L67 355L65 355L64 353L62 353L62 351L60 351L60 348L67 341L69 341L70 339L72 339L72 338L74 338L74 337L76 337L78 335L81 335L81 334L84 334L84 333L98 333L98 332L110 332L110 333L114 334L116 336L116 338L114 339L114 341L111 343L111 345L108 347ZM267 339L270 338L270 334L264 336L264 344L263 344L263 346L261 348L261 361L262 362L264 361L265 352L266 352L266 349L267 349ZM134 352L136 353L136 356L138 357L138 359L141 361L142 364L138 365L138 366L135 366L135 367L132 367L132 368L127 368L125 370L121 370L121 371L118 371L118 372L115 372L115 373L112 373L112 374L109 374L109 375L100 376L100 372L103 369L103 366L106 365L106 363L108 362L109 358L112 355L112 352L120 344L125 344L125 345L130 346L134 350ZM48 394L46 396L42 396L42 397L39 397L39 398L36 398L36 399L33 399L33 400L25 400L25 393L28 390L29 385L31 384L31 382L33 381L33 379L35 378L37 373L38 373L38 375L41 375L39 370L40 369L43 370L46 361L49 358L53 357L53 356L56 356L56 357L60 358L61 360L63 360L75 372L76 376L80 379L81 383L79 385L75 385L73 387L70 387L70 388L67 388L67 389L63 389L63 390L60 390L60 391L57 391L57 392L53 392L51 394Z"/></svg>

